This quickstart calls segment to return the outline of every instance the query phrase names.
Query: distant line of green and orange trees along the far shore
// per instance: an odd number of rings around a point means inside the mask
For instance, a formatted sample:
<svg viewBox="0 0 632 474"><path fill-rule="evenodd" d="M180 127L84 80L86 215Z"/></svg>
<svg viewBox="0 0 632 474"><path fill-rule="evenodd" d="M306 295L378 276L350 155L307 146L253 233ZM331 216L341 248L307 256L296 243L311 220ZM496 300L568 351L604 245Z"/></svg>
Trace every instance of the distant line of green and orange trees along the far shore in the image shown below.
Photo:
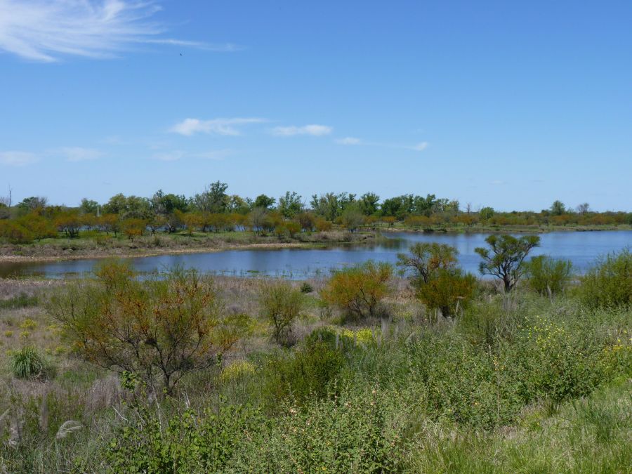
<svg viewBox="0 0 632 474"><path fill-rule="evenodd" d="M374 192L358 196L348 192L312 195L307 201L296 192L276 199L228 193L228 184L216 181L192 197L158 190L152 197L112 196L105 204L81 199L78 207L48 204L46 197L27 197L11 205L0 199L0 238L32 242L47 237L78 237L80 232L126 235L134 239L156 232L235 232L256 235L289 235L327 232L333 228L356 232L378 227L418 230L541 225L632 224L632 213L594 212L587 203L571 209L555 201L540 212L499 212L486 206L473 210L456 199L435 195L401 195L383 199Z"/></svg>

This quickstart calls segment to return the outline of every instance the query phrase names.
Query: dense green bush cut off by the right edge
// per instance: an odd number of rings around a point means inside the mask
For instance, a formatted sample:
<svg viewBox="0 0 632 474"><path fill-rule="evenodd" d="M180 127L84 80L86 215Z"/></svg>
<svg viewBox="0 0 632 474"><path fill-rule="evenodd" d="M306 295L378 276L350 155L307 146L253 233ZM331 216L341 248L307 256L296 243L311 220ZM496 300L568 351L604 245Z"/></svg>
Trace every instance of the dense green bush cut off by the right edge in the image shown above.
<svg viewBox="0 0 632 474"><path fill-rule="evenodd" d="M632 254L610 254L581 278L581 301L589 308L632 304Z"/></svg>

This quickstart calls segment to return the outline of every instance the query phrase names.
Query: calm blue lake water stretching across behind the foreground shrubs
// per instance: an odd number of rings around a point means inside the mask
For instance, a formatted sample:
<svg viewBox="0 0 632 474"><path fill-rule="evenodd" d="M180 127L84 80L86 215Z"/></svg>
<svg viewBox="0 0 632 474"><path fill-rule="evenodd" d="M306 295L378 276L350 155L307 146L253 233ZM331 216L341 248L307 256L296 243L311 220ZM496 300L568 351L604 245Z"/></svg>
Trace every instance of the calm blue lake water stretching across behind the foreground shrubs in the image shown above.
<svg viewBox="0 0 632 474"><path fill-rule="evenodd" d="M459 249L459 261L465 270L478 272L480 258L474 249L485 246L485 234L422 234L397 232L374 246L331 246L326 249L231 250L208 254L164 255L132 258L140 272L155 272L173 265L197 268L218 275L283 275L301 279L326 275L331 268L353 265L373 259L395 263L399 252L415 242L440 242ZM546 254L572 261L585 271L598 256L632 246L632 231L551 232L541 235L541 247L533 255ZM48 278L78 276L91 272L97 260L58 263L2 263L0 277L38 275Z"/></svg>

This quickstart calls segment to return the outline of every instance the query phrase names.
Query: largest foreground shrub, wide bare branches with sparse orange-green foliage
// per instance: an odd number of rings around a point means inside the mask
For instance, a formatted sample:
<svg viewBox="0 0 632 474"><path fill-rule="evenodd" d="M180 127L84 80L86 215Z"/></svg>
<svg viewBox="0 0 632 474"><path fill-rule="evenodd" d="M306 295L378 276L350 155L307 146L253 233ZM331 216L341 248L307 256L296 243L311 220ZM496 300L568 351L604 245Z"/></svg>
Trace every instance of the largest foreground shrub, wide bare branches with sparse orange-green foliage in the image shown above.
<svg viewBox="0 0 632 474"><path fill-rule="evenodd" d="M249 332L249 318L225 311L209 277L175 268L139 281L129 265L109 261L96 281L75 282L48 302L74 348L87 360L142 376L164 393L184 374L217 364Z"/></svg>

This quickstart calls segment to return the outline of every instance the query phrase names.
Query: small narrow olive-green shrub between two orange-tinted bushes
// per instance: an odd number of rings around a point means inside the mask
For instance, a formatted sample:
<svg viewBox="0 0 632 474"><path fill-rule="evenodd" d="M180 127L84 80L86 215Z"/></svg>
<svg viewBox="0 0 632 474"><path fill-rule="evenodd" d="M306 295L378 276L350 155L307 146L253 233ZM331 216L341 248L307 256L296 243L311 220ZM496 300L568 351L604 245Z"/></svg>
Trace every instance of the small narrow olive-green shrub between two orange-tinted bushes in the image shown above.
<svg viewBox="0 0 632 474"><path fill-rule="evenodd" d="M272 325L272 338L281 345L291 345L292 324L301 316L304 305L301 291L283 280L264 282L259 303L261 315Z"/></svg>

